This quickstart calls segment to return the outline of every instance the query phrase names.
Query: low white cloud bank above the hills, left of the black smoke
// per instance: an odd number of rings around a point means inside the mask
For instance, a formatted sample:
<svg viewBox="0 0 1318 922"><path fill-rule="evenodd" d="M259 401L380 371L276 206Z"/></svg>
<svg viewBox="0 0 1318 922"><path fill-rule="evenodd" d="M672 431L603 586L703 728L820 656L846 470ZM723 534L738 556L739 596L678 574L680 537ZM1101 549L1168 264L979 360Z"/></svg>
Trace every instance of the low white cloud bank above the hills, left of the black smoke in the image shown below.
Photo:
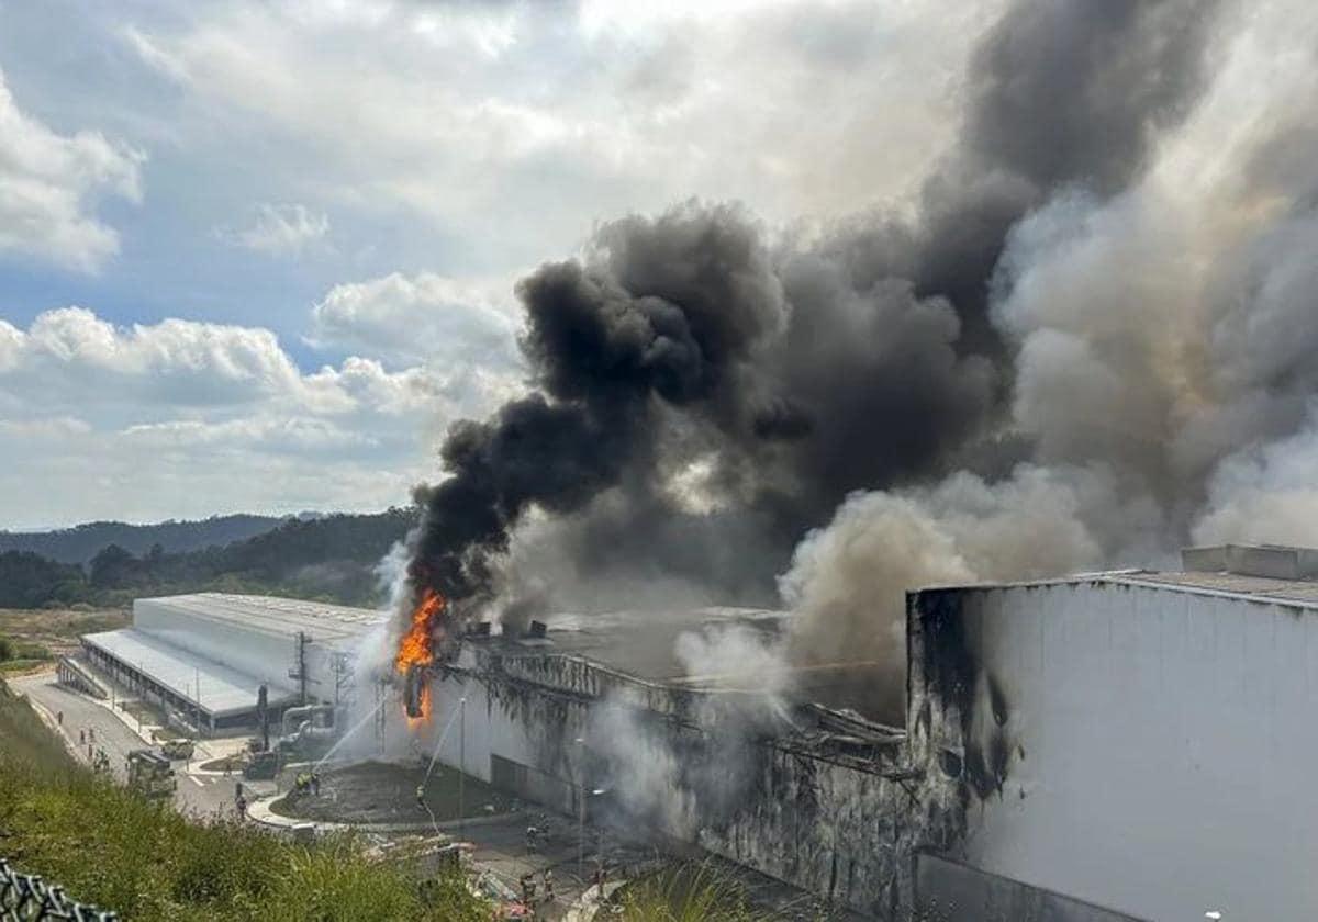
<svg viewBox="0 0 1318 922"><path fill-rule="evenodd" d="M256 327L78 307L0 321L4 524L403 503L447 423L517 387L360 356L303 371Z"/></svg>

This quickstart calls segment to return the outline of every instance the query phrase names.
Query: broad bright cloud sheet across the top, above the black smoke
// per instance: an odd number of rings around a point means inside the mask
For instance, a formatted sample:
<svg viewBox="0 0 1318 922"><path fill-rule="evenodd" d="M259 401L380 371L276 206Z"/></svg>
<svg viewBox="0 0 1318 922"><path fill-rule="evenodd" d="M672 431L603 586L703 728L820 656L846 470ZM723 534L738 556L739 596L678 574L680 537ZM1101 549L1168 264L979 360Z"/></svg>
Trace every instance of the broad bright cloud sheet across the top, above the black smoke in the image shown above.
<svg viewBox="0 0 1318 922"><path fill-rule="evenodd" d="M774 221L909 195L999 5L235 3L125 41L208 121L282 145L270 170L503 269L691 195Z"/></svg>

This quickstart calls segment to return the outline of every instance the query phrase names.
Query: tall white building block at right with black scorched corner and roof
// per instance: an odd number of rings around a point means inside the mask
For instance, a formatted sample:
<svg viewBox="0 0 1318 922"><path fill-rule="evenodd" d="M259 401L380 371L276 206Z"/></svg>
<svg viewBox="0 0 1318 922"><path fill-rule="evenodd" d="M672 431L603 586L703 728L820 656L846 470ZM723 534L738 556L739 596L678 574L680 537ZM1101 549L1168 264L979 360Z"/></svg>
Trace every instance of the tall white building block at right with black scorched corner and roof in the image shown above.
<svg viewBox="0 0 1318 922"><path fill-rule="evenodd" d="M909 594L911 747L954 818L917 857L938 918L1318 917L1315 576L1226 545Z"/></svg>

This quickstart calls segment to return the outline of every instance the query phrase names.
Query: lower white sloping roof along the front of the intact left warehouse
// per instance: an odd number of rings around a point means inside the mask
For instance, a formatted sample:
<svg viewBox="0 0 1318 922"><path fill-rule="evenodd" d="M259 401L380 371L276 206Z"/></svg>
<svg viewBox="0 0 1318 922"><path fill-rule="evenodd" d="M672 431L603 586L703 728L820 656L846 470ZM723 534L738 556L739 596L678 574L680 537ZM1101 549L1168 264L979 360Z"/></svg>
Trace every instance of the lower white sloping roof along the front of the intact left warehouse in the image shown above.
<svg viewBox="0 0 1318 922"><path fill-rule="evenodd" d="M256 707L261 680L167 644L159 637L128 627L84 634L83 641L145 672L174 694L194 705L200 703L203 711L216 717ZM195 689L198 682L202 689L200 702ZM272 682L266 685L272 706L297 698L293 689Z"/></svg>

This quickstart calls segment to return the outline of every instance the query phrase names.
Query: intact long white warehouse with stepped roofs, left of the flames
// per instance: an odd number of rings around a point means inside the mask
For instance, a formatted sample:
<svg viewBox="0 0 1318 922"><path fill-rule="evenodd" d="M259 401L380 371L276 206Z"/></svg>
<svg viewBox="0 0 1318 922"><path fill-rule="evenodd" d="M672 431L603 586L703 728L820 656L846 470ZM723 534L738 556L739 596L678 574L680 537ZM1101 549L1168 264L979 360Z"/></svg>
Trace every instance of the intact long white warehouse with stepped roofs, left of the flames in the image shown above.
<svg viewBox="0 0 1318 922"><path fill-rule="evenodd" d="M87 659L203 731L254 726L261 686L272 715L337 702L352 652L378 611L262 595L198 593L133 602L133 623L82 637Z"/></svg>

